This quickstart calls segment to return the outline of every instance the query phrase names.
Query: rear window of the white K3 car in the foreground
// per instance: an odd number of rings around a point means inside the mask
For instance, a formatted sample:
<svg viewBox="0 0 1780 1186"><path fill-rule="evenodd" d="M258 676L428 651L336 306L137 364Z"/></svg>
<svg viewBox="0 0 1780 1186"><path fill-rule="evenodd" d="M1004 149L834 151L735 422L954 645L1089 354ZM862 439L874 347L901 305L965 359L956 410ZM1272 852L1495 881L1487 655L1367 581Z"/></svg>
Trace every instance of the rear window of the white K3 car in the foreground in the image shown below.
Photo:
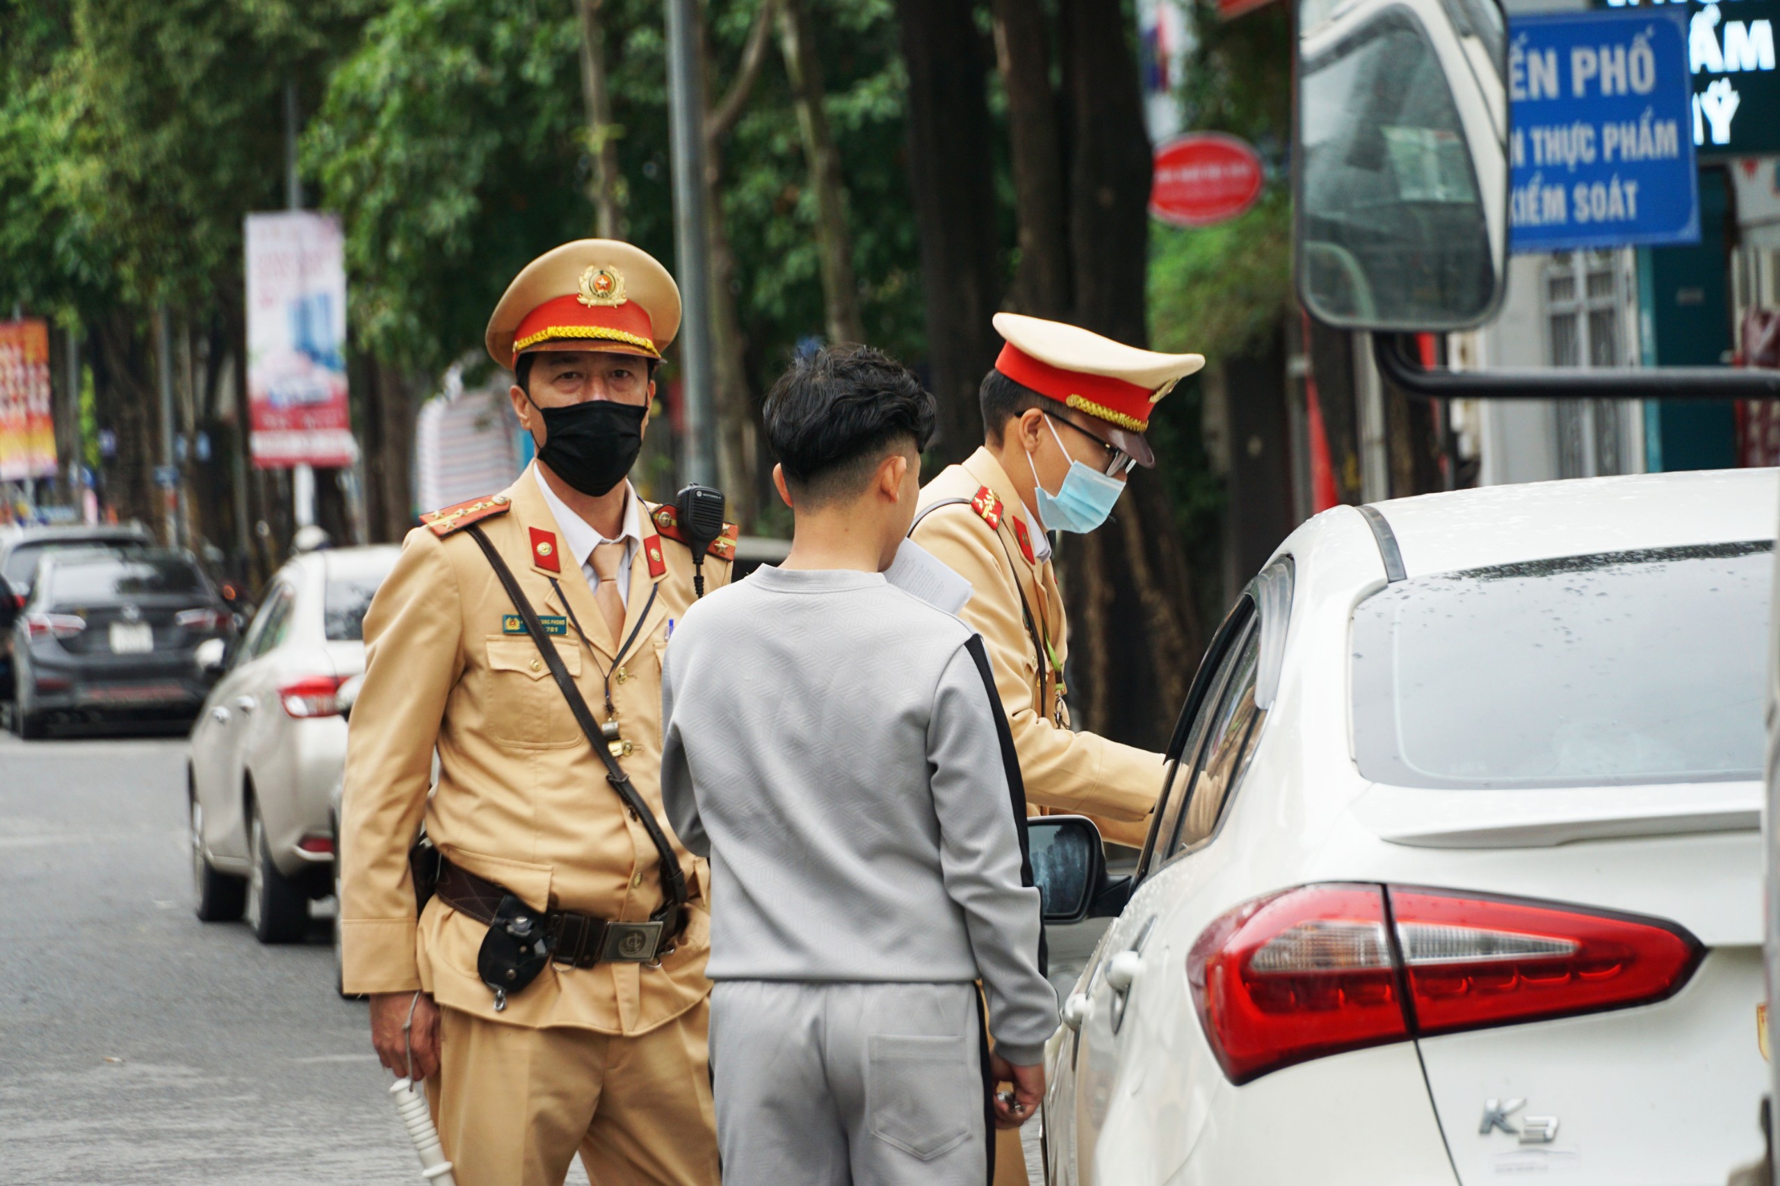
<svg viewBox="0 0 1780 1186"><path fill-rule="evenodd" d="M1773 543L1415 577L1353 614L1360 773L1406 787L1762 773Z"/></svg>

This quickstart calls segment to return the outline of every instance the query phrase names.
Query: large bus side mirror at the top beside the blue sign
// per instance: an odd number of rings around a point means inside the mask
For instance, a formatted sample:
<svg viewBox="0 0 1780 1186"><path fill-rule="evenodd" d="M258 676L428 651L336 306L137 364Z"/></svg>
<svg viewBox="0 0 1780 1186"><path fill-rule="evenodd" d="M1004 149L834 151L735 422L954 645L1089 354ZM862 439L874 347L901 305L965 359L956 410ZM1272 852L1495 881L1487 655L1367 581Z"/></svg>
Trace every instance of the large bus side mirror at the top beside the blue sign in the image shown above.
<svg viewBox="0 0 1780 1186"><path fill-rule="evenodd" d="M1497 0L1296 0L1298 292L1339 329L1483 324L1508 267Z"/></svg>

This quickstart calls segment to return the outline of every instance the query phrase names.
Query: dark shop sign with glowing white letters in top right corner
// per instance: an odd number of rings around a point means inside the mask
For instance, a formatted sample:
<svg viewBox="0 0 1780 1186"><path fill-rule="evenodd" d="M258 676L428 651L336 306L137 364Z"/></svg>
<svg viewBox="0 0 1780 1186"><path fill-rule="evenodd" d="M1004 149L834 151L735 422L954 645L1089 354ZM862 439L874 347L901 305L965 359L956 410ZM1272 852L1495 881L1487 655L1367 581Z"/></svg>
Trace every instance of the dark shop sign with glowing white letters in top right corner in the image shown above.
<svg viewBox="0 0 1780 1186"><path fill-rule="evenodd" d="M1629 9L1634 0L1595 0ZM1670 0L1687 14L1693 142L1702 157L1780 151L1780 0Z"/></svg>

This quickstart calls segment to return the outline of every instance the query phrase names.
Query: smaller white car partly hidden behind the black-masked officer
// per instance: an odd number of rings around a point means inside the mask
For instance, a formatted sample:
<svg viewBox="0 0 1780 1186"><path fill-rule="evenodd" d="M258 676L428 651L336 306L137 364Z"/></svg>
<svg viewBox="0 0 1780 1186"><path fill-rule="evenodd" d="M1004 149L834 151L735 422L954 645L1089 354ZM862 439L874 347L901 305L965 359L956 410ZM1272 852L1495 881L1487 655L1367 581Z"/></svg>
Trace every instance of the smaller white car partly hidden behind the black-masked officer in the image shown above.
<svg viewBox="0 0 1780 1186"><path fill-rule="evenodd" d="M294 942L310 899L333 892L335 693L365 670L365 609L399 552L308 552L279 568L205 700L187 759L199 919L246 912L260 942Z"/></svg>

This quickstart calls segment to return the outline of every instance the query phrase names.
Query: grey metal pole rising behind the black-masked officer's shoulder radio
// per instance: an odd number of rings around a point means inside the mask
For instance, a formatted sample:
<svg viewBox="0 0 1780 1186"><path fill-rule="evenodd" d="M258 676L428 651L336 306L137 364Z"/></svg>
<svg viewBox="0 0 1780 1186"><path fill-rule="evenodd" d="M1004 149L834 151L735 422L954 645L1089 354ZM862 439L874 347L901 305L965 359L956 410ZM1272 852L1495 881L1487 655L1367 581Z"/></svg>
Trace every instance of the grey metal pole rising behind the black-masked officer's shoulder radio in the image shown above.
<svg viewBox="0 0 1780 1186"><path fill-rule="evenodd" d="M673 230L680 264L680 374L685 399L682 477L717 484L717 417L710 392L710 262L705 258L705 80L698 0L668 5L668 110Z"/></svg>

